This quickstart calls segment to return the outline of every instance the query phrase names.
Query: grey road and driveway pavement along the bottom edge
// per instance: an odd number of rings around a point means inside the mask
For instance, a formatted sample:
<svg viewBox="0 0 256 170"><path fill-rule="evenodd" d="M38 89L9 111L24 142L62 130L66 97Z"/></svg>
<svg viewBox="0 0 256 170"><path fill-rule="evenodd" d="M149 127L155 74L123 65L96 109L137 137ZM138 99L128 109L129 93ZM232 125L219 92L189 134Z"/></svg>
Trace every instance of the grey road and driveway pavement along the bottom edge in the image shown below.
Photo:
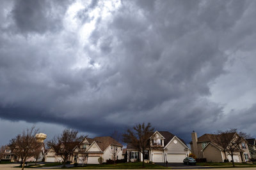
<svg viewBox="0 0 256 170"><path fill-rule="evenodd" d="M1 170L18 170L19 168L17 167L14 167L14 166L17 166L18 164L0 164L0 169ZM172 165L172 169L209 169L209 167L198 167L198 166L183 166L181 167L182 165L177 163L177 164L170 164ZM176 166L176 167L175 167ZM56 170L56 167L54 167L55 170ZM21 169L21 168L20 168ZM24 168L24 169L31 169L31 168ZM36 170L45 170L45 169L53 169L51 167L44 167L44 168L35 168ZM214 167L211 167L211 169L216 169L216 170L227 170L227 168L214 168ZM228 169L233 169L233 168L228 168ZM236 167L236 170L256 170L256 167ZM101 170L105 170L105 169L101 169ZM107 170L107 169L106 169ZM109 169L108 169L109 170ZM141 169L140 169L141 170ZM145 169L146 170L146 169ZM152 169L150 169L152 170ZM163 169L160 169L160 170L163 170Z"/></svg>

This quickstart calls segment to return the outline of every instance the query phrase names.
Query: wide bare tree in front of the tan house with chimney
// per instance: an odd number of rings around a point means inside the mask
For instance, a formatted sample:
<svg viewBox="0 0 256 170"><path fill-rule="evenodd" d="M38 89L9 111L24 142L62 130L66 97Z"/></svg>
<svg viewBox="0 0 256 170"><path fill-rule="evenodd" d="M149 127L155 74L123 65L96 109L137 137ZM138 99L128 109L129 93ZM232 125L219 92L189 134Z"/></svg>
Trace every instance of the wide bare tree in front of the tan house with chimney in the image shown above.
<svg viewBox="0 0 256 170"><path fill-rule="evenodd" d="M246 138L250 138L250 135L244 132L237 132L237 129L230 129L224 132L217 131L211 138L213 143L221 147L225 153L225 159L227 159L226 153L231 156L234 167L234 153L241 152L241 143L246 141Z"/></svg>

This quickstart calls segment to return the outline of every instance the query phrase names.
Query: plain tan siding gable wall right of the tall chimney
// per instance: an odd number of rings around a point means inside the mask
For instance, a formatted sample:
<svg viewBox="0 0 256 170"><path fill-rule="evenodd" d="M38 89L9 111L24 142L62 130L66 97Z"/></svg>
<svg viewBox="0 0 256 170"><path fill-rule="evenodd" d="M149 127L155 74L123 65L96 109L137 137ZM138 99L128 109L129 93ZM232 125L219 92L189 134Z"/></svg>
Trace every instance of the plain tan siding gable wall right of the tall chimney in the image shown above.
<svg viewBox="0 0 256 170"><path fill-rule="evenodd" d="M221 151L212 145L208 145L204 149L204 158L206 158L207 162L223 162L221 155Z"/></svg>

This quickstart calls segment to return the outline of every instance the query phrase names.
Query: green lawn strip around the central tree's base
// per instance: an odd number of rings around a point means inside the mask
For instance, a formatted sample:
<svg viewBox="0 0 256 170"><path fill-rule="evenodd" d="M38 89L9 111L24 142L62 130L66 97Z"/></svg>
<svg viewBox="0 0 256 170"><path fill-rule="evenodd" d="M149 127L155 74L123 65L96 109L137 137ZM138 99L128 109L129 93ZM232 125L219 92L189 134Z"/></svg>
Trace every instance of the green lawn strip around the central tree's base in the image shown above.
<svg viewBox="0 0 256 170"><path fill-rule="evenodd" d="M166 169L166 167L156 164L145 163L145 169ZM94 164L84 167L70 167L70 169L141 169L142 162L119 163L119 164Z"/></svg>

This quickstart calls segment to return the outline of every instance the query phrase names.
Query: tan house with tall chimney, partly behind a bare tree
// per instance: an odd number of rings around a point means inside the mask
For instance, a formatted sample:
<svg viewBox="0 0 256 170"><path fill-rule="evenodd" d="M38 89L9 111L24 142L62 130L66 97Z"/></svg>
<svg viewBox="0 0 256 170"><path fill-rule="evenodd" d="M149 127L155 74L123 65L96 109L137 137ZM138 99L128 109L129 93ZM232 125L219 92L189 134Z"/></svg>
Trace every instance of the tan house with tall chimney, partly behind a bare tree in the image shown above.
<svg viewBox="0 0 256 170"><path fill-rule="evenodd" d="M231 132L228 135L232 139L237 137L235 132ZM190 142L191 152L196 155L196 158L205 158L207 162L224 162L225 153L223 152L223 148L216 145L213 141L213 138L216 138L216 136L217 138L220 137L217 134L204 134L197 138L196 132L192 132L192 141ZM239 152L234 153L234 162L246 162L250 159L247 143L246 139L244 139ZM232 160L231 155L228 155L228 153L226 153L226 157L229 161Z"/></svg>

